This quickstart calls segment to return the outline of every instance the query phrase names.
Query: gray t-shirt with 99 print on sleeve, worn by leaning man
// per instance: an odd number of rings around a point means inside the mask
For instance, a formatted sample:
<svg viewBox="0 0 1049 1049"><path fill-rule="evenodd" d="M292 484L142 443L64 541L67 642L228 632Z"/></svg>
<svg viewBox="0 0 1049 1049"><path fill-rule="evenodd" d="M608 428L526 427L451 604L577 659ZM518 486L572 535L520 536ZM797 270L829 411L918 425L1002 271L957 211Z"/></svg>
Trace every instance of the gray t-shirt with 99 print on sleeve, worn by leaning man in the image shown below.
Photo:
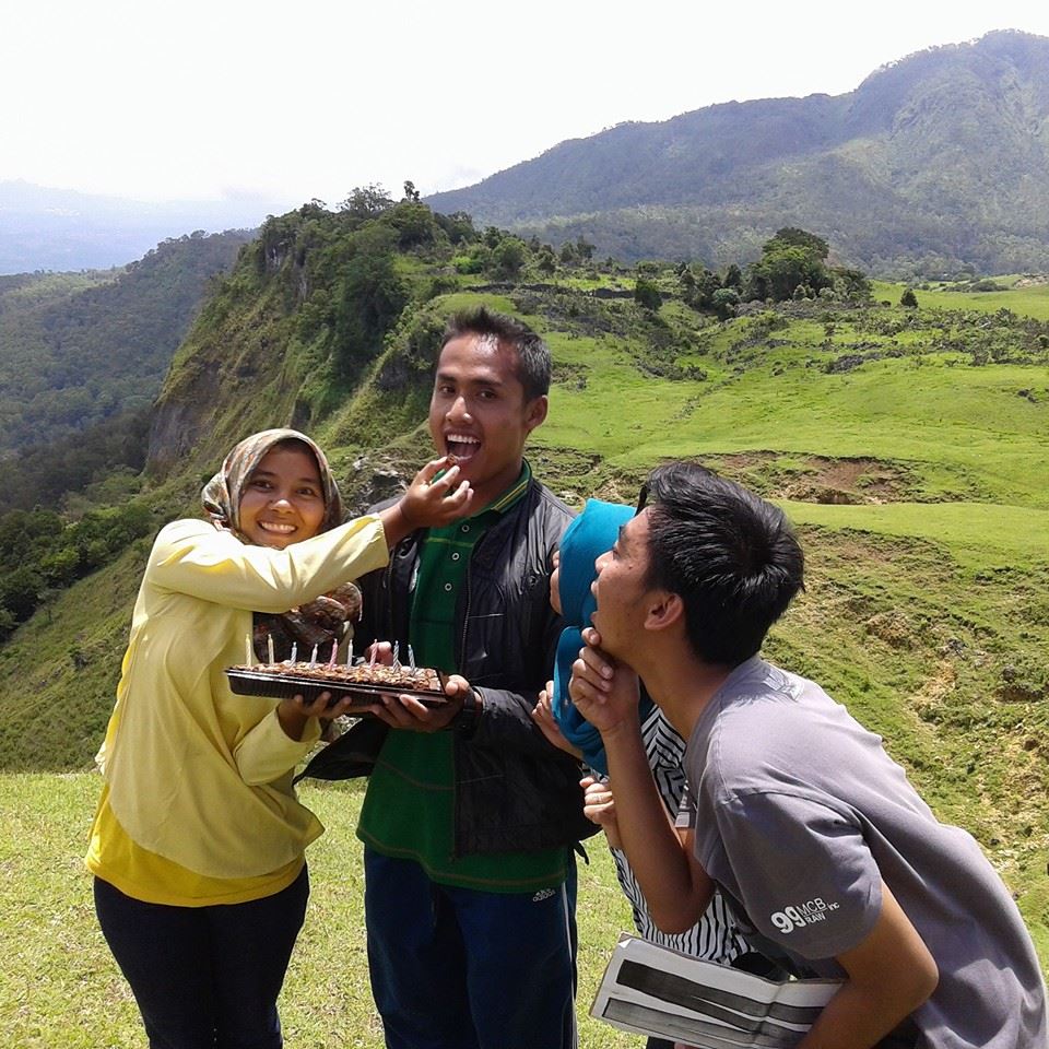
<svg viewBox="0 0 1049 1049"><path fill-rule="evenodd" d="M1045 1049L1030 936L976 841L941 824L904 770L818 685L755 657L704 710L680 826L752 926L821 976L892 889L940 969L914 1013L930 1049Z"/></svg>

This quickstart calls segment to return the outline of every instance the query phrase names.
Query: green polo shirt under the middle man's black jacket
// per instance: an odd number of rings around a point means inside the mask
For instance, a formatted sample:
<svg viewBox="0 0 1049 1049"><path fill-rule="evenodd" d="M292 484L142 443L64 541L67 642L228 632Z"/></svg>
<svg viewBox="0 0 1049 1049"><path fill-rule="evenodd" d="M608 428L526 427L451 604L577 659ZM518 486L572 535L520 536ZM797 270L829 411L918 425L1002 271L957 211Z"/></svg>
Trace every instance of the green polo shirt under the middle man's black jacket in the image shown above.
<svg viewBox="0 0 1049 1049"><path fill-rule="evenodd" d="M528 487L526 463L517 481L473 517L429 529L420 551L410 636L415 662L455 673L456 599L467 582L474 545ZM361 810L357 837L384 856L420 863L432 881L493 893L559 885L567 850L455 857L455 755L451 732L389 733Z"/></svg>

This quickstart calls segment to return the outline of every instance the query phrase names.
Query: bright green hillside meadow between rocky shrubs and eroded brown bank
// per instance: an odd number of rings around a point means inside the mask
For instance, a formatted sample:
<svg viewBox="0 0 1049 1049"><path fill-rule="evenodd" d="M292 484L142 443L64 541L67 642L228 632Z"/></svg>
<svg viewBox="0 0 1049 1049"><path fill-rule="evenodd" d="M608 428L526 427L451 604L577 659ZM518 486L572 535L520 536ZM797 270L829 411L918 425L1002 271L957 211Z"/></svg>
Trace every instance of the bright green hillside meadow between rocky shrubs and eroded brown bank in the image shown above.
<svg viewBox="0 0 1049 1049"><path fill-rule="evenodd" d="M828 373L845 347L825 350L812 322L775 331L773 349L733 351L738 331L687 355L708 369L704 381L639 373L614 334L553 332L555 360L581 369L585 384L552 391L535 443L586 449L627 472L665 458L773 450L870 457L906 472L920 502L1049 507L1049 365L959 366L930 351Z"/></svg>

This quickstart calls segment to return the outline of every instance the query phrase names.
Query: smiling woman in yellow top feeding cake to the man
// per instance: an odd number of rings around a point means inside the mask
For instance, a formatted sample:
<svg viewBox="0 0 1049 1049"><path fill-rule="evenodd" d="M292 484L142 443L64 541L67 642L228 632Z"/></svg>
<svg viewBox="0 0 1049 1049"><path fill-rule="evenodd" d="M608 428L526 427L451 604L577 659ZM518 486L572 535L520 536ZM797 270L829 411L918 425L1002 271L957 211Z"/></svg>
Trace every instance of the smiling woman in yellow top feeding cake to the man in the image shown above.
<svg viewBox="0 0 1049 1049"><path fill-rule="evenodd" d="M282 1045L276 998L309 894L304 850L323 829L292 776L319 719L349 705L234 695L225 668L244 662L249 636L260 658L270 638L288 658L309 602L384 566L409 531L469 512L457 476L446 460L427 463L390 509L341 523L317 445L264 431L204 486L208 519L157 535L98 753L86 857L152 1049Z"/></svg>

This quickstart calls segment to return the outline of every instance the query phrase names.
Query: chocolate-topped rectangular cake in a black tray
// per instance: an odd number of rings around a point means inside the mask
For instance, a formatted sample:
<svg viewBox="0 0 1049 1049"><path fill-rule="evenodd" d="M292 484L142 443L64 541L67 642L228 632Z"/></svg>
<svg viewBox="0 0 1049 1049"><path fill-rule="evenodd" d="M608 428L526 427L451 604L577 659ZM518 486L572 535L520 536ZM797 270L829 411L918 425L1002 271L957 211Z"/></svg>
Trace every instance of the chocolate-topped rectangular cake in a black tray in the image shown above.
<svg viewBox="0 0 1049 1049"><path fill-rule="evenodd" d="M226 670L229 687L246 696L302 695L307 702L321 692L332 694L332 704L352 696L358 705L373 704L381 695L410 693L435 706L446 702L444 679L428 667L403 667L400 663L260 663L231 667Z"/></svg>

